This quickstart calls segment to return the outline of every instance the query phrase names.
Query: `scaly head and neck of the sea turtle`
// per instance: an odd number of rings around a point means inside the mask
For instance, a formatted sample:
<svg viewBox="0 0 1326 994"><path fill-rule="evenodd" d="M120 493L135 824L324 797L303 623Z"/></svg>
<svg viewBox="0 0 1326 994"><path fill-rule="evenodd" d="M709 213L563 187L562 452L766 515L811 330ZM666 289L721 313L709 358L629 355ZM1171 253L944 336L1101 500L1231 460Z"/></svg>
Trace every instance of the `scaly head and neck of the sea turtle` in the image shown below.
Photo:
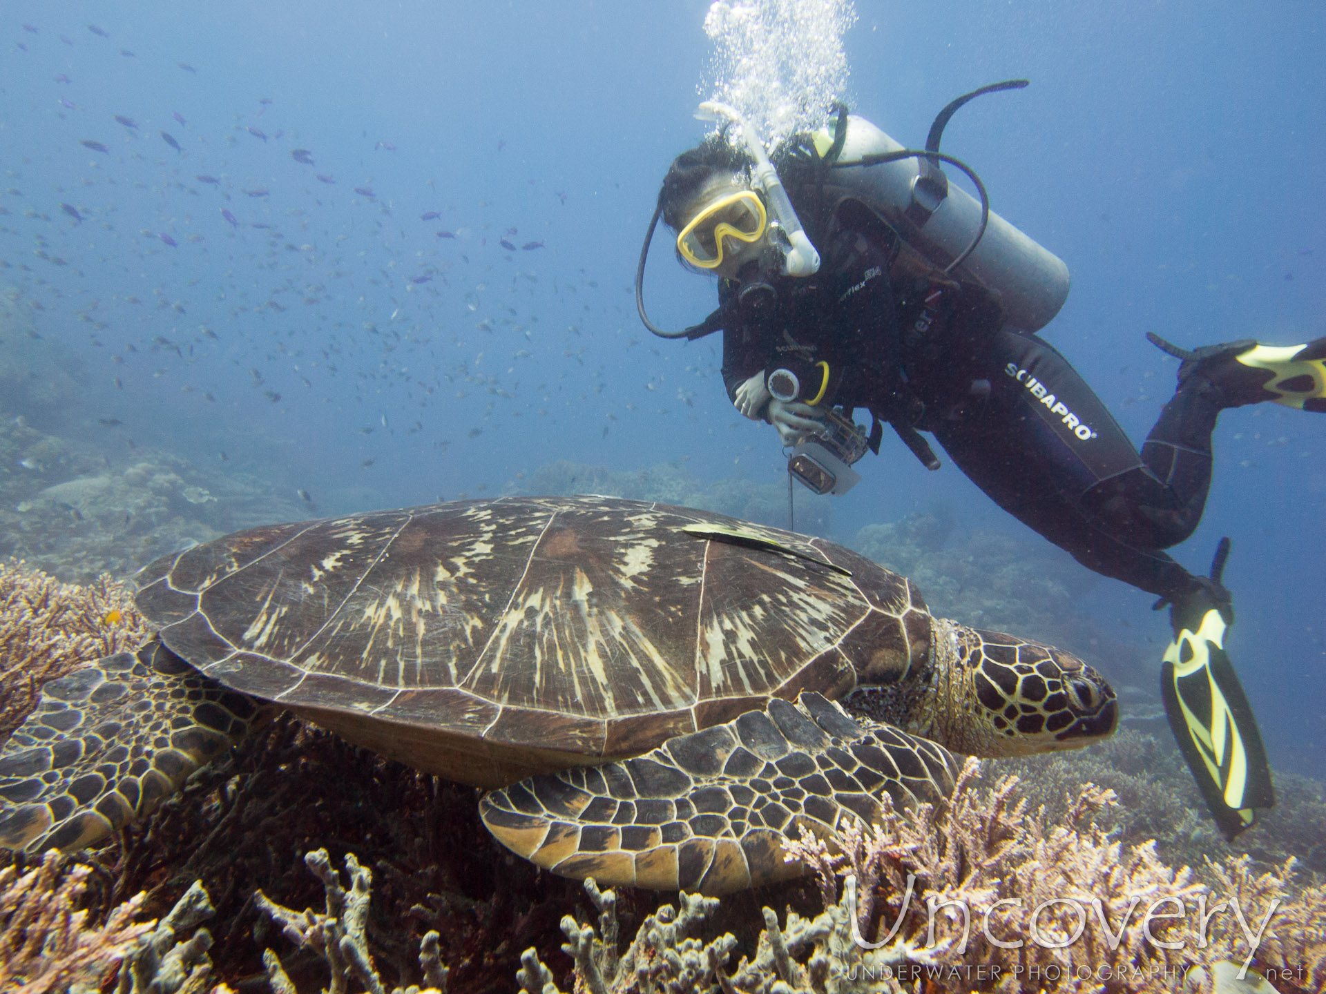
<svg viewBox="0 0 1326 994"><path fill-rule="evenodd" d="M847 705L955 753L991 758L1079 749L1119 724L1114 689L1095 669L1013 635L935 618L922 672L891 687L859 685Z"/></svg>

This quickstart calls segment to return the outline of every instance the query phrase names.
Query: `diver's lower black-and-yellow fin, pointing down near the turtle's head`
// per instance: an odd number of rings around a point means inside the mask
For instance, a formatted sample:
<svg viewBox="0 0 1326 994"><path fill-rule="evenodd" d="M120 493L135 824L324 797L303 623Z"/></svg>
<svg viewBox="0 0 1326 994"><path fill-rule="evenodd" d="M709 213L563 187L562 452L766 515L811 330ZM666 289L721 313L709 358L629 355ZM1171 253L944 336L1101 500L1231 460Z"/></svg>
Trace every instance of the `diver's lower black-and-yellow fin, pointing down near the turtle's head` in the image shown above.
<svg viewBox="0 0 1326 994"><path fill-rule="evenodd" d="M1272 807L1276 791L1248 694L1224 648L1233 623L1220 571L1229 539L1220 541L1209 584L1170 610L1174 641L1164 653L1160 692L1170 729L1221 834L1233 840Z"/></svg>

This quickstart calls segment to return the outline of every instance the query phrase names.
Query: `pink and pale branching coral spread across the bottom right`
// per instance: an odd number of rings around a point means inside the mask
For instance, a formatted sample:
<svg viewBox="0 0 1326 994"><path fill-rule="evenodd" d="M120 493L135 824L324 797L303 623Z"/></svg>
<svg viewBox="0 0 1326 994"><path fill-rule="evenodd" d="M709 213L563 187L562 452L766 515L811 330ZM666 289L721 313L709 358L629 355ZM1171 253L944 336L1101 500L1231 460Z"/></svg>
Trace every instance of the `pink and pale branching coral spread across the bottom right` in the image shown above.
<svg viewBox="0 0 1326 994"><path fill-rule="evenodd" d="M1111 839L1098 824L1111 791L1089 785L1049 818L1017 799L1013 777L976 786L979 770L968 761L944 804L900 814L886 799L878 824L853 819L831 842L804 832L785 843L814 872L825 911L789 911L780 925L765 908L756 952L736 967L731 934L693 937L717 901L687 895L615 957L613 892L587 883L597 932L562 920L577 993L1211 994L1245 990L1228 986L1245 964L1286 981L1281 990L1323 989L1326 889L1294 895L1290 865L1258 876L1229 859L1209 868L1219 887L1208 887L1150 842ZM526 994L558 993L533 950L517 979Z"/></svg>

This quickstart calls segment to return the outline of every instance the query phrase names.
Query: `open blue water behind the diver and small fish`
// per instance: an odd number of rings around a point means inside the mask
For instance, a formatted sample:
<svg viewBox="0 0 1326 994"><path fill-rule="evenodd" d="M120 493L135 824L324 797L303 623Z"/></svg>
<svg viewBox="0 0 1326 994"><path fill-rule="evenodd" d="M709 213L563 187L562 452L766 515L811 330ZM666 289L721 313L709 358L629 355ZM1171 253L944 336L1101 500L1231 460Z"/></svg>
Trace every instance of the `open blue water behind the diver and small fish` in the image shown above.
<svg viewBox="0 0 1326 994"><path fill-rule="evenodd" d="M727 403L717 337L652 339L630 289L667 163L703 134L691 114L707 95L705 9L9 0L0 187L19 193L0 199L12 212L0 217L0 286L42 341L85 359L76 428L64 431L114 460L127 459L126 439L198 463L224 451L325 513L493 494L553 459L781 481L772 429ZM1134 440L1175 371L1144 331L1187 346L1326 334L1321 3L858 9L853 109L900 142L923 143L963 91L1032 80L964 109L944 148L1069 264L1073 292L1045 335ZM257 188L269 193L241 192ZM420 220L428 211L440 217ZM713 300L663 240L648 294L672 327ZM97 424L111 417L123 425ZM1232 655L1273 762L1315 775L1323 463L1326 419L1270 404L1225 414L1205 520L1176 551L1203 570L1219 537L1235 538ZM1040 541L951 465L930 474L894 440L863 469L834 505L835 538L943 497L963 527ZM1163 643L1150 603L1101 580L1082 607Z"/></svg>

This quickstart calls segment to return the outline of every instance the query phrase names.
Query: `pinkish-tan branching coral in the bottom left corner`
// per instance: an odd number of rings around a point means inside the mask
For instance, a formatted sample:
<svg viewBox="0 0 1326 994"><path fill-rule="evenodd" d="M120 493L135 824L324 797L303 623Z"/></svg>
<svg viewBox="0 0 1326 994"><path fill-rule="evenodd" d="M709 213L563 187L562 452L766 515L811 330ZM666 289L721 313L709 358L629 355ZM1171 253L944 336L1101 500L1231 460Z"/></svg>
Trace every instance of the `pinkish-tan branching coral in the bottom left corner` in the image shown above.
<svg viewBox="0 0 1326 994"><path fill-rule="evenodd" d="M74 911L91 873L50 851L20 875L0 871L0 990L9 994L91 994L151 929L135 924L143 895L114 908L101 928Z"/></svg>

